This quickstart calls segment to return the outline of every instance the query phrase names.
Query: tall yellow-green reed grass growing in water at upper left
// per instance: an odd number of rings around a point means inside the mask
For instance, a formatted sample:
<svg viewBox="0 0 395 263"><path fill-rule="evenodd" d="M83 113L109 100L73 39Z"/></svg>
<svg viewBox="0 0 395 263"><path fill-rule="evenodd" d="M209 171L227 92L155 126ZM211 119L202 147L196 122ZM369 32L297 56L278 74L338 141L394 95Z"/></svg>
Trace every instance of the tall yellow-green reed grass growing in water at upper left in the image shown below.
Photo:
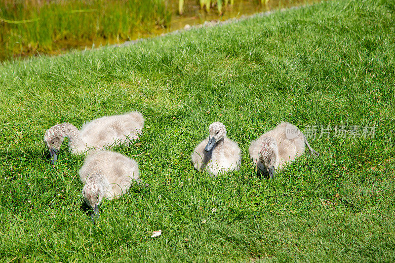
<svg viewBox="0 0 395 263"><path fill-rule="evenodd" d="M50 51L65 40L128 39L170 19L166 0L1 0L0 56Z"/></svg>

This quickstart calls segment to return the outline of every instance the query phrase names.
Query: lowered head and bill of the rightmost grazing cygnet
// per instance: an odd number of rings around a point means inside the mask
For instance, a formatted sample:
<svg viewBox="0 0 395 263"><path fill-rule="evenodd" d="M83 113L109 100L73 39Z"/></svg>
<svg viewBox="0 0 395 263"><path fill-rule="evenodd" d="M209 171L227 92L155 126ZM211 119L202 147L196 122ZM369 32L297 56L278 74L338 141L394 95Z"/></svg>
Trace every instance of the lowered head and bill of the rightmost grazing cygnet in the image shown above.
<svg viewBox="0 0 395 263"><path fill-rule="evenodd" d="M261 163L265 166L270 178L275 174L276 160L278 158L277 142L272 137L266 137L259 148L258 157Z"/></svg>

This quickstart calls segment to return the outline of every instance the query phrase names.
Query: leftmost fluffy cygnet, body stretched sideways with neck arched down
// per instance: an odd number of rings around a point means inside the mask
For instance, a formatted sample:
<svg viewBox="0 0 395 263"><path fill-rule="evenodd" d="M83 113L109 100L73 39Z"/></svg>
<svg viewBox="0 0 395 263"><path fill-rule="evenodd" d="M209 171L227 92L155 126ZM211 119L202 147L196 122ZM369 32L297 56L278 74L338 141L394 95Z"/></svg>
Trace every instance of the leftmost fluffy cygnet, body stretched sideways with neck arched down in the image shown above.
<svg viewBox="0 0 395 263"><path fill-rule="evenodd" d="M56 124L44 135L52 164L56 163L58 151L65 137L69 138L69 150L82 154L90 149L103 149L114 144L130 144L144 127L144 117L139 112L104 116L82 125L78 130L70 123Z"/></svg>

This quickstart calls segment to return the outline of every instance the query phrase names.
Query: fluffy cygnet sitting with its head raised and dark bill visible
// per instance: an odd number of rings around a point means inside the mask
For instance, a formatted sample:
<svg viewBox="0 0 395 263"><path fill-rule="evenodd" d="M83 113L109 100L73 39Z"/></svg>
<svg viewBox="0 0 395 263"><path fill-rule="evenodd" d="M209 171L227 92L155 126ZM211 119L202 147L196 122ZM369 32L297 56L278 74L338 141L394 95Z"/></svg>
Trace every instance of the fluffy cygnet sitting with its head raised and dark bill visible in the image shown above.
<svg viewBox="0 0 395 263"><path fill-rule="evenodd" d="M197 170L211 175L239 170L241 151L236 142L226 136L225 125L214 122L208 127L209 136L197 145L191 159Z"/></svg>

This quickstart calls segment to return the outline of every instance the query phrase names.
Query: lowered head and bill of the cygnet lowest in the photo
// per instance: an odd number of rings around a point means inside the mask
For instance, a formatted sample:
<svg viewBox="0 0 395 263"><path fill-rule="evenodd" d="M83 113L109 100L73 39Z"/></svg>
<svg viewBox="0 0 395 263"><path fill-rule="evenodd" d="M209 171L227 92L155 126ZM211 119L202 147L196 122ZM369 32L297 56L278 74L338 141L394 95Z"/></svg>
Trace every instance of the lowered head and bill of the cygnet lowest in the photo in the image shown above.
<svg viewBox="0 0 395 263"><path fill-rule="evenodd" d="M100 174L88 176L82 188L82 196L85 203L93 209L90 216L92 219L99 216L99 203L104 196L104 180Z"/></svg>

